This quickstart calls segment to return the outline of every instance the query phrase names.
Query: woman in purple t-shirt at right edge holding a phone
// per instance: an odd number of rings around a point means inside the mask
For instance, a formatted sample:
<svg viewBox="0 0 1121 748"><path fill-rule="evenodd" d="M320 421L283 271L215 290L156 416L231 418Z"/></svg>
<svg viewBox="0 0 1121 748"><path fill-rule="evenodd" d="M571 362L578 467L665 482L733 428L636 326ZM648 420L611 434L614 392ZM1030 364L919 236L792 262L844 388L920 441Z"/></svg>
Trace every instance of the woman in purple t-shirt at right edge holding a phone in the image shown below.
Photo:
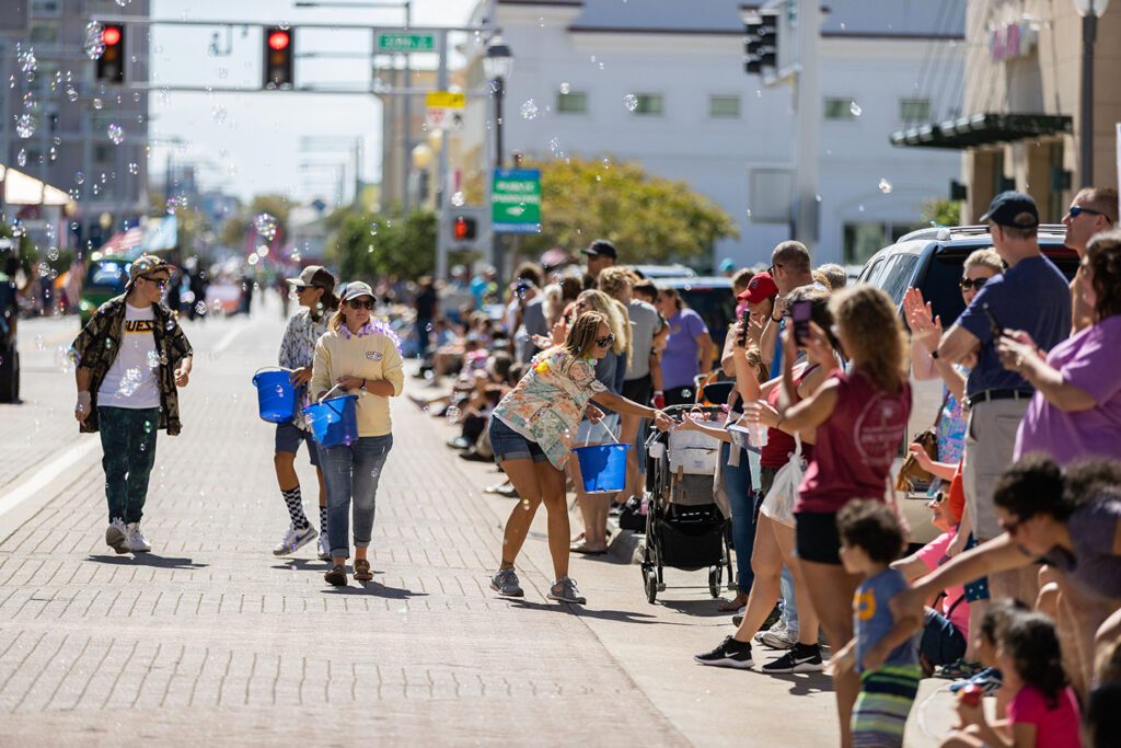
<svg viewBox="0 0 1121 748"><path fill-rule="evenodd" d="M1094 324L1051 349L1046 359L1031 339L1000 339L1006 369L1036 394L1020 423L1013 458L1046 452L1059 464L1088 456L1121 460L1121 230L1095 236L1082 260L1082 297Z"/></svg>

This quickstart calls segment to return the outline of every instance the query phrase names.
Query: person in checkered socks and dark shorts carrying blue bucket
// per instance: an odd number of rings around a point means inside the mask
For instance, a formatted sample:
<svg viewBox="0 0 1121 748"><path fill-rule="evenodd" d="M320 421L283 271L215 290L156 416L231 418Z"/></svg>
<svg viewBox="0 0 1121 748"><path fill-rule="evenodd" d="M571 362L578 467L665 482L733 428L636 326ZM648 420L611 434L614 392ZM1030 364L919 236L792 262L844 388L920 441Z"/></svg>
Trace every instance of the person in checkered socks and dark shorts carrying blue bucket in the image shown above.
<svg viewBox="0 0 1121 748"><path fill-rule="evenodd" d="M327 313L339 307L339 297L334 294L335 277L318 265L307 266L298 278L288 278L288 284L296 292L302 308L288 320L288 327L280 341L279 363L293 370L288 379L295 387L304 387L312 381L315 343L327 331L330 317ZM315 539L315 528L304 515L299 477L296 474L296 451L302 443L307 445L307 455L315 465L319 479L319 558L328 561L331 555L327 547L327 488L323 482L319 455L315 442L312 441L312 434L304 424L303 414L298 414L294 422L277 424L272 463L291 524L280 538L280 543L272 548L272 555L295 553Z"/></svg>

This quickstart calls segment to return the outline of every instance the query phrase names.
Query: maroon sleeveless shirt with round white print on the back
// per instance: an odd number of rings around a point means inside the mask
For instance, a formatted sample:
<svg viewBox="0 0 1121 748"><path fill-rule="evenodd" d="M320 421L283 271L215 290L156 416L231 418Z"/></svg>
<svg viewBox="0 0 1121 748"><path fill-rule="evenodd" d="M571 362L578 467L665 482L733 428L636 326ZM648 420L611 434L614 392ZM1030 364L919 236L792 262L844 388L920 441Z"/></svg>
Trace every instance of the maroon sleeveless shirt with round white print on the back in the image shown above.
<svg viewBox="0 0 1121 748"><path fill-rule="evenodd" d="M882 501L891 462L907 431L910 382L888 395L859 371L837 369L831 376L840 382L836 407L817 427L814 459L795 511L837 511L852 499Z"/></svg>

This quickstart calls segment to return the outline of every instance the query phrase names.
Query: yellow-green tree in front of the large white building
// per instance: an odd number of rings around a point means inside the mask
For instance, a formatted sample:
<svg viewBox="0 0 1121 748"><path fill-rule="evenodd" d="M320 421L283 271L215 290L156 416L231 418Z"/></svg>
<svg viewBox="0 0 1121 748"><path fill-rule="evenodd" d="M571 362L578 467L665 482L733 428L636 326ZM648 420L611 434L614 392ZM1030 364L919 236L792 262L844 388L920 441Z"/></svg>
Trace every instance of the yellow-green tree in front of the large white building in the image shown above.
<svg viewBox="0 0 1121 748"><path fill-rule="evenodd" d="M606 238L623 261L688 260L717 239L739 236L713 201L638 164L566 158L526 166L541 169L541 233L520 240L529 255Z"/></svg>

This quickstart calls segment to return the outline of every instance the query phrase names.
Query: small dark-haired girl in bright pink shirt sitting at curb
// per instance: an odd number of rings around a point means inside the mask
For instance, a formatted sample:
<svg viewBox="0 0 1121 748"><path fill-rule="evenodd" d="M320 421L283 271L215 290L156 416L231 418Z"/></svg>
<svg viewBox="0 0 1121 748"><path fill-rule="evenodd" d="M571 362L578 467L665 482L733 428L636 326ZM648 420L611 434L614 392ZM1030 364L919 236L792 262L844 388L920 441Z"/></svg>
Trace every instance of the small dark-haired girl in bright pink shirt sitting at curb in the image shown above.
<svg viewBox="0 0 1121 748"><path fill-rule="evenodd" d="M1000 637L997 661L1004 689L1015 694L1008 720L990 723L981 704L958 701L963 729L951 735L943 748L1078 748L1078 702L1063 672L1051 620L1040 613L1016 617Z"/></svg>

